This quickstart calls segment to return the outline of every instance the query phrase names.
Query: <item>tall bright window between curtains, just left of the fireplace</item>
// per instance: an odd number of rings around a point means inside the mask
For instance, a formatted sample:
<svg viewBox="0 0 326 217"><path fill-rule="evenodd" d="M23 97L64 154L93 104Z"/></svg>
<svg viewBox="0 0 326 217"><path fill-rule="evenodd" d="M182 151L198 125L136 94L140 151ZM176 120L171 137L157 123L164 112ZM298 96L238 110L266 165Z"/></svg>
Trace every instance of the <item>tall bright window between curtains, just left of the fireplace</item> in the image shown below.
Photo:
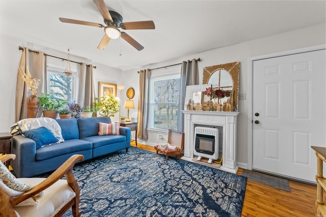
<svg viewBox="0 0 326 217"><path fill-rule="evenodd" d="M177 129L179 92L179 73L151 78L150 128Z"/></svg>

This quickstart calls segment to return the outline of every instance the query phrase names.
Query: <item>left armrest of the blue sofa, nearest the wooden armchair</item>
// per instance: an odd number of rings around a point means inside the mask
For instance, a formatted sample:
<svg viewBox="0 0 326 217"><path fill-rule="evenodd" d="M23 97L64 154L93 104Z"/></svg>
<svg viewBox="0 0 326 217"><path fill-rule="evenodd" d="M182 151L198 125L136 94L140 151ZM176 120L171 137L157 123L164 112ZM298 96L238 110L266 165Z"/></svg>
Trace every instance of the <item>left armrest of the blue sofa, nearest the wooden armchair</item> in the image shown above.
<svg viewBox="0 0 326 217"><path fill-rule="evenodd" d="M20 168L23 168L22 165L30 165L31 167L28 168L32 169L35 164L36 142L22 135L13 136L11 139L11 153L16 154L16 159L10 165L16 175L21 177L23 171L20 171Z"/></svg>

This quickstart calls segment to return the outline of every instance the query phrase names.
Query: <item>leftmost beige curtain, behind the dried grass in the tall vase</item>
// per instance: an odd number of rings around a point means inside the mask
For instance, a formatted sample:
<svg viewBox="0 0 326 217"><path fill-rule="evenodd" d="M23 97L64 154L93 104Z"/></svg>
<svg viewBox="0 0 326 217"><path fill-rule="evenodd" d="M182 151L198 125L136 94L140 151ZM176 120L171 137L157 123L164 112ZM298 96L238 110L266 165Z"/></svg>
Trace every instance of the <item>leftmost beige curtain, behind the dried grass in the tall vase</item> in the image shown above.
<svg viewBox="0 0 326 217"><path fill-rule="evenodd" d="M19 68L23 67L24 72L26 73L26 68L29 68L32 77L38 78L39 87L36 92L36 96L40 96L42 92L46 92L46 57L41 51L29 51L29 48L23 47L23 51L20 57L18 71L17 71L17 83L16 83L16 122L27 118L27 101L31 95L31 91L28 89L28 86L25 84L22 79L21 74L19 73ZM38 116L42 115L41 108L37 114Z"/></svg>

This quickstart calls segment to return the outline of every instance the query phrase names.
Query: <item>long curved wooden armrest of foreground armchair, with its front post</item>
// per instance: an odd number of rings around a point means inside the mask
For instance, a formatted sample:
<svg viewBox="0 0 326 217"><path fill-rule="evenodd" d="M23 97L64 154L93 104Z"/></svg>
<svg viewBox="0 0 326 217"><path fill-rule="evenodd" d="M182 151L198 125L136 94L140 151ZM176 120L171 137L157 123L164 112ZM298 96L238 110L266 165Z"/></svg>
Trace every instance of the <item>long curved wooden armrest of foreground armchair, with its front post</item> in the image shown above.
<svg viewBox="0 0 326 217"><path fill-rule="evenodd" d="M75 163L79 161L83 161L84 156L81 154L74 154L71 156L64 164L62 164L55 172L53 172L49 177L47 177L44 181L37 184L33 189L24 192L21 195L15 196L10 198L10 202L12 206L16 206L20 202L42 192L46 188L48 188L50 185L54 184L56 181L61 179L64 175L67 177L67 182L70 186L70 188L75 192L76 198L79 200L79 187L77 184L76 179L74 178L72 174L72 168L75 165Z"/></svg>

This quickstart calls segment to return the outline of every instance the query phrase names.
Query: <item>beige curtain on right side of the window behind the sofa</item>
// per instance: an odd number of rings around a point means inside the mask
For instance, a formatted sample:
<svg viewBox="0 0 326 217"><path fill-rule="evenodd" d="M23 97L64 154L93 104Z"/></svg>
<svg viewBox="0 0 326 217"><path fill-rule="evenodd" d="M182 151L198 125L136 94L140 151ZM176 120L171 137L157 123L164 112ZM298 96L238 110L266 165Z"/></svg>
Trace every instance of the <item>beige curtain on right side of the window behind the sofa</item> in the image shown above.
<svg viewBox="0 0 326 217"><path fill-rule="evenodd" d="M93 106L95 101L93 65L83 63L79 68L79 84L76 101L84 108L86 106Z"/></svg>

